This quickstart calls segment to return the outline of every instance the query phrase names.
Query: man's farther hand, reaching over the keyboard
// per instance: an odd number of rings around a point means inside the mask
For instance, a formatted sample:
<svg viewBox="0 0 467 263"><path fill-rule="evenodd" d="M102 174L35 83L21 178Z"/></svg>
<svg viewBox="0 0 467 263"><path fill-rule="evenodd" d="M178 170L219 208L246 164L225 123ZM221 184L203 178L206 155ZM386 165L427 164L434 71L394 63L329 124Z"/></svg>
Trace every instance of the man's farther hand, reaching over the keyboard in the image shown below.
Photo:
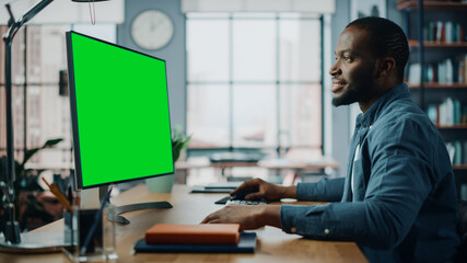
<svg viewBox="0 0 467 263"><path fill-rule="evenodd" d="M245 199L260 199L279 201L281 198L295 198L296 186L280 186L265 182L260 179L254 179L241 184L236 190L232 191L231 195L245 190L255 188L258 192L245 196Z"/></svg>

